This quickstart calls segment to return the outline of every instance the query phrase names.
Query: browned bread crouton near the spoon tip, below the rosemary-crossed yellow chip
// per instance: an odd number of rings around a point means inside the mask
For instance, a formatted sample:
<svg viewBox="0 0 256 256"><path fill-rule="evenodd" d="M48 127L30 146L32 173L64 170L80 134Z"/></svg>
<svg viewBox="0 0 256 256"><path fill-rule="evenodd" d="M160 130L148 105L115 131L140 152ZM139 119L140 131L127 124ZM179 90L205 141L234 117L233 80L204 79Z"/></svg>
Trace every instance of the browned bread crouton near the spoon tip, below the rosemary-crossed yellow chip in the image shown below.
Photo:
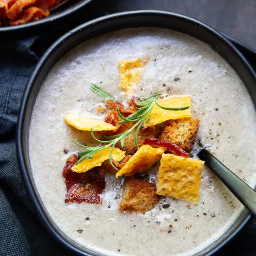
<svg viewBox="0 0 256 256"><path fill-rule="evenodd" d="M199 120L191 117L169 120L159 139L171 141L189 152L196 138L198 125Z"/></svg>

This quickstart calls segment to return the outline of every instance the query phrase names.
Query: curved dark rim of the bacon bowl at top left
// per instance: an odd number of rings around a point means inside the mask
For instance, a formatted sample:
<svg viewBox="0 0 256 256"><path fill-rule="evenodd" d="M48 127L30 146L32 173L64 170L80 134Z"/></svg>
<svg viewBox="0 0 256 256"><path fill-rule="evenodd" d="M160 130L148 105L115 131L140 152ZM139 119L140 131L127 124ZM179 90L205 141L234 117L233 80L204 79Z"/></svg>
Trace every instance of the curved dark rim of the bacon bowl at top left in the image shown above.
<svg viewBox="0 0 256 256"><path fill-rule="evenodd" d="M60 26L61 23L66 22L67 19L74 17L92 0L68 1L60 4L61 6L54 8L49 17L40 20L31 21L17 26L0 27L0 36L5 37L24 37L26 35L42 34L46 29L52 31L54 27Z"/></svg>

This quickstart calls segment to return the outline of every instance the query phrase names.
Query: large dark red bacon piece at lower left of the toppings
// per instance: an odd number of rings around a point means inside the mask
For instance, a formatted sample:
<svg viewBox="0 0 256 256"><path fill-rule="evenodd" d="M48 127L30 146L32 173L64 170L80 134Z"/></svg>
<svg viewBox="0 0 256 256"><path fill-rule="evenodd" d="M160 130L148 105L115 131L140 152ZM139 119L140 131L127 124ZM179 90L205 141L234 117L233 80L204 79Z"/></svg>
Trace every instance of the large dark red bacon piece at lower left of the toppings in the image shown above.
<svg viewBox="0 0 256 256"><path fill-rule="evenodd" d="M67 194L65 203L76 201L91 204L101 204L101 194L105 188L105 169L103 166L94 167L85 173L76 173L71 170L78 161L77 155L71 155L63 169L63 177L66 179Z"/></svg>

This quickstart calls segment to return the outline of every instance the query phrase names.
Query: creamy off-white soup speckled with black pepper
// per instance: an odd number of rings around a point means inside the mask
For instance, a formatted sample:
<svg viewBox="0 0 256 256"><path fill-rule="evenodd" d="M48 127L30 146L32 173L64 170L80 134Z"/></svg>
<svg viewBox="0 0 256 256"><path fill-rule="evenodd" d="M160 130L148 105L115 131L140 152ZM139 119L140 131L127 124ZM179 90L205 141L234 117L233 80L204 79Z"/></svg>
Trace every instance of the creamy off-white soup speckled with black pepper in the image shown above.
<svg viewBox="0 0 256 256"><path fill-rule="evenodd" d="M206 166L198 205L162 197L145 214L120 213L120 199L115 197L122 195L122 179L114 175L106 177L102 205L64 202L63 166L81 148L72 142L74 134L64 123L63 114L96 114L102 98L90 91L92 82L125 100L126 93L119 89L118 61L140 55L149 55L150 61L134 94L191 95L192 116L200 120L197 139L250 186L255 185L256 117L243 82L210 46L159 28L126 29L93 38L54 66L31 117L33 177L55 225L92 251L106 255L193 255L225 233L243 210ZM197 147L195 143L194 150ZM170 207L164 209L166 203Z"/></svg>

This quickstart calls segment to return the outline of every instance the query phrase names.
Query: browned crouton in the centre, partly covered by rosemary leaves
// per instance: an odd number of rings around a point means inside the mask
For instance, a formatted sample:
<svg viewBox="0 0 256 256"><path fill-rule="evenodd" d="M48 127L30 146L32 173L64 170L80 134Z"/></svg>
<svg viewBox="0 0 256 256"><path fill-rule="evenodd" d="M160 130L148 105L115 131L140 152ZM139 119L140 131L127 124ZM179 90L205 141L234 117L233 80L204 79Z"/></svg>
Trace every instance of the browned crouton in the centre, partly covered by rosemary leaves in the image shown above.
<svg viewBox="0 0 256 256"><path fill-rule="evenodd" d="M123 133L123 132L127 131L128 129L130 129L133 125L134 125L134 123L132 123L132 122L123 124L121 127L119 127L119 129L115 132L115 134ZM134 142L135 132L136 132L136 129L133 129L127 135L127 137L124 140L124 146L125 146L124 148L121 147L120 141L117 142L116 147L126 151L126 154L128 154L128 155L134 154L137 151L137 148L136 148L135 142ZM156 131L155 126L150 126L146 129L141 127L141 129L138 133L139 147L141 147L143 145L143 142L145 141L146 138L155 138L156 134L157 134L157 131Z"/></svg>

